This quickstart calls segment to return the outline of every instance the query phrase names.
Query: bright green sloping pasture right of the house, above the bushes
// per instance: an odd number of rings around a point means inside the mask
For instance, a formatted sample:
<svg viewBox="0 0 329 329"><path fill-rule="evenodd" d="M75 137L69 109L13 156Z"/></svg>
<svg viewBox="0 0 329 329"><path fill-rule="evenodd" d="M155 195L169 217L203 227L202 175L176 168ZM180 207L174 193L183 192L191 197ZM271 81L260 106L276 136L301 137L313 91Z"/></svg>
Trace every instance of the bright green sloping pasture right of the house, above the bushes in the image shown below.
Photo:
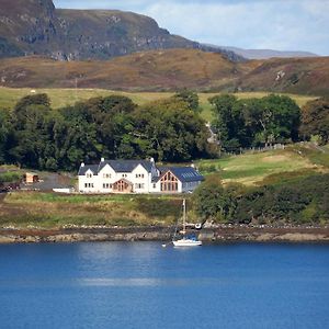
<svg viewBox="0 0 329 329"><path fill-rule="evenodd" d="M216 160L201 160L197 166L203 174L217 173L224 183L261 184L270 175L287 172L309 174L329 170L329 154L307 146L288 146L281 150L248 152ZM302 174L302 173L300 173Z"/></svg>

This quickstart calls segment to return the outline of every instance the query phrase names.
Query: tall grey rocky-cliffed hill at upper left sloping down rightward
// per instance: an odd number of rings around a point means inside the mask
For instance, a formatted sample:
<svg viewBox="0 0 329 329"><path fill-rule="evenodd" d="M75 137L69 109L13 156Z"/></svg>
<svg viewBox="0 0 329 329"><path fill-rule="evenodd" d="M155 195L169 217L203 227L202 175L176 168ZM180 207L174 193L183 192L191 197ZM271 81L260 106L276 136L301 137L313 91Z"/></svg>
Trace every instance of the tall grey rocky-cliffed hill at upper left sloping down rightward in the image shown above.
<svg viewBox="0 0 329 329"><path fill-rule="evenodd" d="M132 12L56 9L52 0L1 0L0 4L0 58L109 59L149 49L200 48L243 60L231 50L172 35L155 20Z"/></svg>

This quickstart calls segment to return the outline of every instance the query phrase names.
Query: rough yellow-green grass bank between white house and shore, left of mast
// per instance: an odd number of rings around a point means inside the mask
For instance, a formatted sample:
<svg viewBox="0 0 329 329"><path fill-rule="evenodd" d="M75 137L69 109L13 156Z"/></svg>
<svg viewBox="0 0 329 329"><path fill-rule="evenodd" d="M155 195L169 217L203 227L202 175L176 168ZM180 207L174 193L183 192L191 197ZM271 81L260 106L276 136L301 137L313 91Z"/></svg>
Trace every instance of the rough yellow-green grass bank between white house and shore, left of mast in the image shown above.
<svg viewBox="0 0 329 329"><path fill-rule="evenodd" d="M138 195L58 195L19 192L2 195L0 227L173 225L181 197Z"/></svg>

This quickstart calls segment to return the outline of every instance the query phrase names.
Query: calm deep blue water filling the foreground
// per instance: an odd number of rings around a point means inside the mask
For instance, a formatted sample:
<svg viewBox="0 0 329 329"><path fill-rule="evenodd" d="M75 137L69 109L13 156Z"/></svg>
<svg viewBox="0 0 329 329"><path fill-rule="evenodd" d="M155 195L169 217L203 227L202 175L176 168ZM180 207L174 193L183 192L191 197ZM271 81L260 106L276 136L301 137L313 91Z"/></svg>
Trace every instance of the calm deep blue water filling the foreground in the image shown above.
<svg viewBox="0 0 329 329"><path fill-rule="evenodd" d="M329 245L0 246L0 328L329 328Z"/></svg>

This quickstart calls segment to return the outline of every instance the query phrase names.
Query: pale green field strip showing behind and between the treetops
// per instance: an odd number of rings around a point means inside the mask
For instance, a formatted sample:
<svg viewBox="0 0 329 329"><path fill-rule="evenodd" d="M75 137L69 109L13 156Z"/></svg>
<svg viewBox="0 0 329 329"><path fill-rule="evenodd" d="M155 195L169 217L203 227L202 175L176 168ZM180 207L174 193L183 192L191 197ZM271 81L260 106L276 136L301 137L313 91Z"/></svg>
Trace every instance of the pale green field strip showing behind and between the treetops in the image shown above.
<svg viewBox="0 0 329 329"><path fill-rule="evenodd" d="M122 91L111 91L104 89L36 89L37 93L47 93L52 100L52 106L54 109L59 109L66 105L72 105L78 101L88 100L94 97L106 97L111 94L122 94L131 98L135 103L143 105L148 102L166 99L171 97L172 92L122 92ZM31 89L21 88L0 88L0 109L11 109L21 98L32 94ZM212 106L208 99L216 95L217 93L198 93L200 105L203 109L202 116L206 121L212 120ZM240 99L250 98L262 98L268 95L266 92L240 92L236 95ZM306 102L314 100L314 97L306 95L294 95L292 97L299 106L303 106Z"/></svg>

